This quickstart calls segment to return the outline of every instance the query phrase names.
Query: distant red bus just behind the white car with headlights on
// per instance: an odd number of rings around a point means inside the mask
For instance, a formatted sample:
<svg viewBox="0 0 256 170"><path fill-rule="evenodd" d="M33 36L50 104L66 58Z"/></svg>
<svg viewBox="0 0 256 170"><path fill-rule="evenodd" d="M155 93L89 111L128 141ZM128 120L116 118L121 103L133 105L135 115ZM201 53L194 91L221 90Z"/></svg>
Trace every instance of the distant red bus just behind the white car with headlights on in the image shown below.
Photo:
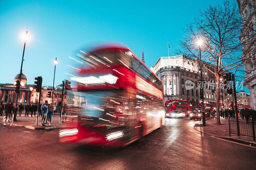
<svg viewBox="0 0 256 170"><path fill-rule="evenodd" d="M192 105L187 100L166 100L165 101L165 114L170 114L173 110L180 110L188 115L191 111Z"/></svg>

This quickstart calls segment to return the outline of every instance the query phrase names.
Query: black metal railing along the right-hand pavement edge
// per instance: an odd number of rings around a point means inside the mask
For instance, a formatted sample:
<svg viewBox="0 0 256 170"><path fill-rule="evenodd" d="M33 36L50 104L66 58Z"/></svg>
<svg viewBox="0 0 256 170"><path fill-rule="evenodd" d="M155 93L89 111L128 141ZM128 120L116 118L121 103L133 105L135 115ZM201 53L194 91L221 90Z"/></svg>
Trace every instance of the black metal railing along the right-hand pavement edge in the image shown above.
<svg viewBox="0 0 256 170"><path fill-rule="evenodd" d="M252 137L253 141L255 141L255 120L256 119L253 117L246 117L245 119L243 119L243 117L229 116L229 136L231 137L231 134L236 134L237 136L242 135Z"/></svg>

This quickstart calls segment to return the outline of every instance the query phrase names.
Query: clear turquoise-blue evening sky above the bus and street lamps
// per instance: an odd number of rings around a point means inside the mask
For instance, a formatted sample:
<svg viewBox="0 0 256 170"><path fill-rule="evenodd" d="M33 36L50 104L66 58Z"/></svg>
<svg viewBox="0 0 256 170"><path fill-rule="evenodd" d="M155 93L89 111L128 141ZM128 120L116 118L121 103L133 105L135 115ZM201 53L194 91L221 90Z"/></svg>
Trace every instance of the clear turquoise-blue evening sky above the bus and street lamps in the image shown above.
<svg viewBox="0 0 256 170"><path fill-rule="evenodd" d="M234 0L234 2L236 2ZM145 63L154 65L160 56L170 55L198 9L222 0L198 1L1 1L0 2L0 83L12 83L20 72L24 43L21 34L28 31L23 73L27 84L43 77L43 85L52 86L57 57L55 85L63 79L68 57L73 52L99 42L121 42Z"/></svg>

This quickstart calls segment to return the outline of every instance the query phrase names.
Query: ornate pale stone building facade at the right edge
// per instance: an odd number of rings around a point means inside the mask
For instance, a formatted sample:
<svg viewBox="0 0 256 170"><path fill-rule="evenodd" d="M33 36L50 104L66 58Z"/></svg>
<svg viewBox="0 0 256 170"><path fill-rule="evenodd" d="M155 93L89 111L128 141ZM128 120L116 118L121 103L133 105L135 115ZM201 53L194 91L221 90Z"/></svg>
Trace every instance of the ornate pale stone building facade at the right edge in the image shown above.
<svg viewBox="0 0 256 170"><path fill-rule="evenodd" d="M256 110L256 1L237 0L239 13L242 16L243 29L241 29L240 40L243 45L243 56L249 57L248 64L245 65L244 85L250 90L250 101L252 109Z"/></svg>

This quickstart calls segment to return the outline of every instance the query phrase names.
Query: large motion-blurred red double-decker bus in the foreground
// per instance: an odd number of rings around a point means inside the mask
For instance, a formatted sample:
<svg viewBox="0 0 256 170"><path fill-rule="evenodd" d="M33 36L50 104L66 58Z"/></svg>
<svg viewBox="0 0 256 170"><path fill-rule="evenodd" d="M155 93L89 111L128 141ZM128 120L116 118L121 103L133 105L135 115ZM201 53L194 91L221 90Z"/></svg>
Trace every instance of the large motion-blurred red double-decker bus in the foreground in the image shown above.
<svg viewBox="0 0 256 170"><path fill-rule="evenodd" d="M165 123L162 82L126 46L106 45L80 51L79 66L68 73L77 91L69 91L68 128L61 142L120 147Z"/></svg>

